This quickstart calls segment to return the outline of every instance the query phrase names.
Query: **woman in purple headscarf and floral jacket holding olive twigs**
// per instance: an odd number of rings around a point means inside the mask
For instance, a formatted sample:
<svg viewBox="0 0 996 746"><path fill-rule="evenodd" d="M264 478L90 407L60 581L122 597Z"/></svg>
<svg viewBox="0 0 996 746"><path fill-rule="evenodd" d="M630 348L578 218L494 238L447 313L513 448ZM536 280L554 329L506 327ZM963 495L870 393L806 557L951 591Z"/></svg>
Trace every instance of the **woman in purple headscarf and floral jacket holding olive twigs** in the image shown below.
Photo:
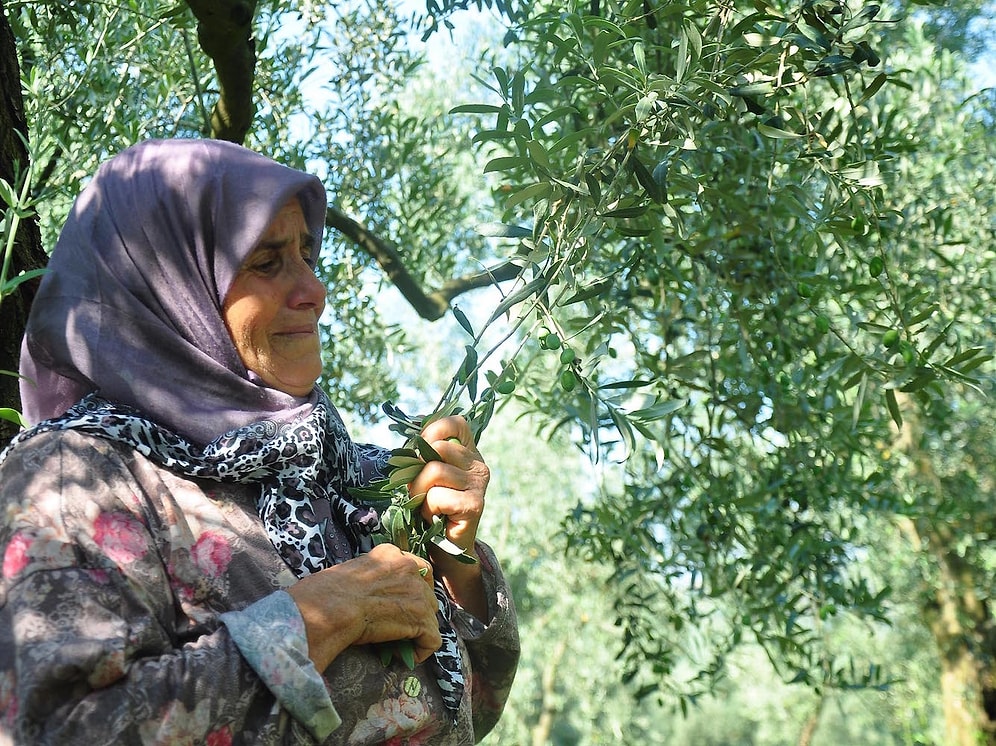
<svg viewBox="0 0 996 746"><path fill-rule="evenodd" d="M0 462L0 743L464 744L515 615L462 418L410 485L479 559L374 546L382 474L315 386L325 192L229 143L105 163L35 299ZM380 653L411 640L409 669Z"/></svg>

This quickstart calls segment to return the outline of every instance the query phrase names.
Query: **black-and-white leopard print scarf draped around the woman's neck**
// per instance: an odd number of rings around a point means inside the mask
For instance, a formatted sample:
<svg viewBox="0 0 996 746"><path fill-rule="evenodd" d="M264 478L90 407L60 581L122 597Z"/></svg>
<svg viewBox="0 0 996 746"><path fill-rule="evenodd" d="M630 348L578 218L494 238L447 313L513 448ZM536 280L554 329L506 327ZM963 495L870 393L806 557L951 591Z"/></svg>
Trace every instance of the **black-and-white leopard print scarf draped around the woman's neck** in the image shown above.
<svg viewBox="0 0 996 746"><path fill-rule="evenodd" d="M298 577L369 551L380 529L377 512L353 504L347 490L382 476L390 453L354 444L324 393L304 420L255 422L203 448L136 410L89 394L61 417L17 435L0 453L0 462L33 435L67 429L131 446L153 463L185 476L259 484L259 516L274 548ZM463 666L451 623L452 604L438 581L435 591L443 644L432 662L443 702L455 718L465 686Z"/></svg>

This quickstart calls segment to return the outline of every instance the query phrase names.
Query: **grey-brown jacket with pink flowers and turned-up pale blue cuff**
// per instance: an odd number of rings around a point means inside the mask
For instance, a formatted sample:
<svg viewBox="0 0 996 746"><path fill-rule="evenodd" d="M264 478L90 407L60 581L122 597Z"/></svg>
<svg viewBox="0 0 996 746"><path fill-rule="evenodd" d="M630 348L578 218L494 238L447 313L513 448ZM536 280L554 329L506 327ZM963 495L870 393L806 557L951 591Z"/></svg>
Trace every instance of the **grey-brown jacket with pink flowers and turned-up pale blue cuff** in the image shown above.
<svg viewBox="0 0 996 746"><path fill-rule="evenodd" d="M0 745L440 744L497 722L518 661L490 549L490 622L460 610L454 718L426 666L349 648L320 674L250 486L194 480L72 430L0 467Z"/></svg>

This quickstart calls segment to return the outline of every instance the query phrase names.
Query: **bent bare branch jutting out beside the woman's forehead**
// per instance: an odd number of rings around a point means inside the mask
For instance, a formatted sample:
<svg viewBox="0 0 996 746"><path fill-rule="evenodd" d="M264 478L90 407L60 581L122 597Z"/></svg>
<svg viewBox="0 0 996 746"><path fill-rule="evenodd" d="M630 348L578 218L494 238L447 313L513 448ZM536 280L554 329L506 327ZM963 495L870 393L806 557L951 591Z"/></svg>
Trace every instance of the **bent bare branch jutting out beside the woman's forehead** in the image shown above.
<svg viewBox="0 0 996 746"><path fill-rule="evenodd" d="M353 218L331 206L325 214L325 225L339 231L369 254L415 312L428 321L442 318L449 309L450 302L457 296L470 290L511 280L519 273L519 268L515 264L504 262L492 269L450 280L438 290L427 293L405 267L396 246L374 235Z"/></svg>

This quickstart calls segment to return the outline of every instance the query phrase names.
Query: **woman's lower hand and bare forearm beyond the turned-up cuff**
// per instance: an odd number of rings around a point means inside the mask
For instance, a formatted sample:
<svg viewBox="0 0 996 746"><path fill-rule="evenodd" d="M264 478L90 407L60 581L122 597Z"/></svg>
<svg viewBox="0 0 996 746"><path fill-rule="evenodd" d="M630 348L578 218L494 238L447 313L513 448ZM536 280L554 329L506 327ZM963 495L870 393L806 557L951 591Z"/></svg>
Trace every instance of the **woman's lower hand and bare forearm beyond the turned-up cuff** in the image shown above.
<svg viewBox="0 0 996 746"><path fill-rule="evenodd" d="M287 589L304 619L308 652L324 671L347 647L411 640L419 663L442 643L432 567L381 544L367 554L301 578Z"/></svg>

